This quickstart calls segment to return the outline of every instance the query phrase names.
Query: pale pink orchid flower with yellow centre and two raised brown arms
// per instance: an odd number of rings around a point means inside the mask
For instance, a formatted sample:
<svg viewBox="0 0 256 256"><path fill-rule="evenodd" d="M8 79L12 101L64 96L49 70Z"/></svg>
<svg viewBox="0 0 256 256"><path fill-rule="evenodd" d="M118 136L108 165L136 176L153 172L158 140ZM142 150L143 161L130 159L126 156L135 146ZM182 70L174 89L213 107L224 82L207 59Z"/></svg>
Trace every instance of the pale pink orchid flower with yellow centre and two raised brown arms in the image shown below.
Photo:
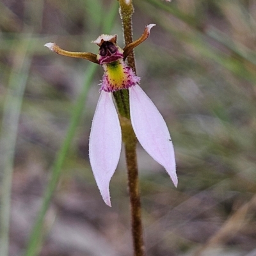
<svg viewBox="0 0 256 256"><path fill-rule="evenodd" d="M173 184L178 180L175 167L173 143L163 116L139 86L140 77L125 64L129 53L150 35L155 24L146 26L143 35L121 49L116 45L116 35L101 35L95 44L99 54L90 52L67 52L53 43L45 44L58 54L85 58L104 69L100 84L100 97L92 121L89 141L89 157L93 175L104 202L111 206L109 182L120 158L122 132L112 94L118 90L129 90L131 124L141 146L161 164L170 175Z"/></svg>

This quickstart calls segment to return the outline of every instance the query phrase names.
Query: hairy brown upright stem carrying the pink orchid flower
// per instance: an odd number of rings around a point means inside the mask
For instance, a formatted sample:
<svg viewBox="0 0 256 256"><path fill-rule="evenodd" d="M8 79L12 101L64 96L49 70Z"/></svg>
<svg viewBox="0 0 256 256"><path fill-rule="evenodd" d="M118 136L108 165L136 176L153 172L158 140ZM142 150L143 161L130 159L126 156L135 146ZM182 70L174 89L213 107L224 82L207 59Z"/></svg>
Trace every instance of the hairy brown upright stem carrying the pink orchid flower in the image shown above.
<svg viewBox="0 0 256 256"><path fill-rule="evenodd" d="M120 3L120 16L122 19L122 25L124 29L125 45L132 42L132 13L134 12L132 1L118 0ZM134 52L132 51L127 56L127 64L132 68L136 74ZM114 93L115 99L122 99L123 105L120 104L120 100L116 100L118 111L120 115L129 118L130 113L123 115L124 109L129 109L129 93L126 90L118 91ZM121 94L122 95L121 95ZM128 99L128 100L127 100ZM126 106L125 106L126 105ZM123 107L122 107L123 106ZM140 203L140 188L138 179L138 164L136 155L136 143L137 139L131 126L131 122L126 118L120 117L120 123L122 126L123 141L125 144L125 158L128 172L128 186L130 193L131 202L131 218L132 218L132 240L134 246L134 256L143 256L144 243L143 243L143 232L142 232L142 221L141 221L141 203Z"/></svg>

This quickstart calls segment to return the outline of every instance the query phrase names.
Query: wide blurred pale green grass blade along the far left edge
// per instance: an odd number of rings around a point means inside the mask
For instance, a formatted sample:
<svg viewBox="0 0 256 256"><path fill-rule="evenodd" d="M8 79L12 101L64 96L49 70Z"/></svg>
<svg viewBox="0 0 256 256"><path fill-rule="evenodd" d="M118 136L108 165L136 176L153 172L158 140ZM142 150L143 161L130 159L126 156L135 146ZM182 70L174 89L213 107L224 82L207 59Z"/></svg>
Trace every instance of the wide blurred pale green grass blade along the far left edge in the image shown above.
<svg viewBox="0 0 256 256"><path fill-rule="evenodd" d="M30 37L30 36L29 36ZM0 208L0 255L8 255L9 228L11 214L11 192L13 159L19 127L20 111L26 83L29 76L31 58L26 56L28 37L20 36L17 44L13 44L13 66L10 72L8 92L3 106L1 129L1 208Z"/></svg>

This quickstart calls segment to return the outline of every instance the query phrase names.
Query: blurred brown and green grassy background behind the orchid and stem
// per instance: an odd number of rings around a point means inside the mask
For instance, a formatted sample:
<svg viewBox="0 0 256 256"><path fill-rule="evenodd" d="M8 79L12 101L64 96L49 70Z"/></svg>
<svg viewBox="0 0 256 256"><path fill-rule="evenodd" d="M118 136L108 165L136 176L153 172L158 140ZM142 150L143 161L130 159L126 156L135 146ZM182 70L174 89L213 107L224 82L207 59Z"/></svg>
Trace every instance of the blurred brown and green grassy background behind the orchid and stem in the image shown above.
<svg viewBox="0 0 256 256"><path fill-rule="evenodd" d="M256 255L256 1L133 2L134 39L157 25L135 49L137 73L168 124L179 177L176 189L138 145L147 255ZM0 10L1 223L10 216L9 255L28 250L61 156L38 255L132 255L124 152L111 208L88 161L103 70L44 47L97 54L92 40L109 31L124 47L118 2L2 0Z"/></svg>

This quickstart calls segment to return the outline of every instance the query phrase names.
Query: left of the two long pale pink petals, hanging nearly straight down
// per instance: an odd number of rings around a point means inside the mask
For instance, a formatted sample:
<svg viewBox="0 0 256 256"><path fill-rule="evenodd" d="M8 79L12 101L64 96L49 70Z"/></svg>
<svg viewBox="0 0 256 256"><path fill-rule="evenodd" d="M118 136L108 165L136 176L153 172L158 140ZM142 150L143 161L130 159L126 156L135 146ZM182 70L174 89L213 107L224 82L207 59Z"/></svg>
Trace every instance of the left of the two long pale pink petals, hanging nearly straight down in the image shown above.
<svg viewBox="0 0 256 256"><path fill-rule="evenodd" d="M109 182L116 170L121 147L121 127L112 93L102 91L92 121L89 157L100 194L109 206Z"/></svg>

